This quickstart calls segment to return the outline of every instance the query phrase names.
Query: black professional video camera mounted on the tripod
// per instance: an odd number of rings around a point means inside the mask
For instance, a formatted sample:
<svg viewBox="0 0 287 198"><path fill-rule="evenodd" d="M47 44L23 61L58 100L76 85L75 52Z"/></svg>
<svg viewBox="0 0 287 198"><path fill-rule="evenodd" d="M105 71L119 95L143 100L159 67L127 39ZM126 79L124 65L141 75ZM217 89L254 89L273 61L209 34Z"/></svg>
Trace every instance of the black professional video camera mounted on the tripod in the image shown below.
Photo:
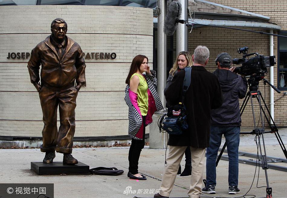
<svg viewBox="0 0 287 198"><path fill-rule="evenodd" d="M243 53L243 58L232 59L233 64L242 64L241 67L237 67L234 72L244 76L260 75L264 76L271 66L276 64L275 56L263 56L258 53L248 54L248 47L237 49L237 53ZM251 55L256 55L253 58L247 59Z"/></svg>

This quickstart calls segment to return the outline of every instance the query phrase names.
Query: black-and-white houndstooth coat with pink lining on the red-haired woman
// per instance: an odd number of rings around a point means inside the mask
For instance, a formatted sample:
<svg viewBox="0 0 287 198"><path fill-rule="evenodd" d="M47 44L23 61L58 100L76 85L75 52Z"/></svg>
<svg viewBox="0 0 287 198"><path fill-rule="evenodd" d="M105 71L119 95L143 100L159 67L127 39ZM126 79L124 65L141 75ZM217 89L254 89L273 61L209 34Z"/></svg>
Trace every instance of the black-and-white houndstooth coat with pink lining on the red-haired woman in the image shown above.
<svg viewBox="0 0 287 198"><path fill-rule="evenodd" d="M163 109L163 105L160 101L160 97L156 91L156 72L151 70L151 74L143 74L143 76L147 80L148 86L148 111L146 116L145 126L151 124L153 122L152 116L155 111L160 111ZM130 86L127 85L125 88L125 97L124 100L129 107L129 128L128 133L129 136L136 140L143 139L143 119L140 114L139 107L137 106L137 94L130 90Z"/></svg>

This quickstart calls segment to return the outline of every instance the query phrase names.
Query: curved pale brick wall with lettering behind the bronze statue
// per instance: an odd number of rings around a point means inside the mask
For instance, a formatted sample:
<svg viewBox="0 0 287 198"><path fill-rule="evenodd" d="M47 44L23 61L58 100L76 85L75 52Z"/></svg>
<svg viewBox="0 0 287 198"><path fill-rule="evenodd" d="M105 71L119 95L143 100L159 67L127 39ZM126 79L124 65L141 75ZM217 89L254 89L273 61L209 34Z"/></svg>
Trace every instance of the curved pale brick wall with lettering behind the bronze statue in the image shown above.
<svg viewBox="0 0 287 198"><path fill-rule="evenodd" d="M56 5L0 6L0 136L41 136L40 100L30 83L28 59L6 57L31 52L59 17L85 53L117 54L116 59L86 59L87 87L77 97L75 137L127 135L125 78L137 54L145 54L152 68L152 9Z"/></svg>

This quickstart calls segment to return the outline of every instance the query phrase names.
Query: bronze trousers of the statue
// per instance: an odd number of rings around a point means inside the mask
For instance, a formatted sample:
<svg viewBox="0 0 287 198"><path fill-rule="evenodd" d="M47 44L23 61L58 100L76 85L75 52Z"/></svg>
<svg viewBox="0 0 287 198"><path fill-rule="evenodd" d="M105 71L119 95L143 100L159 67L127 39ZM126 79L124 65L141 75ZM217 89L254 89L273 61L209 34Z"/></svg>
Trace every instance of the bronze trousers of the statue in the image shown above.
<svg viewBox="0 0 287 198"><path fill-rule="evenodd" d="M75 134L75 108L78 91L70 87L53 91L42 86L39 96L43 112L42 152L72 153ZM57 127L57 108L59 106L60 127Z"/></svg>

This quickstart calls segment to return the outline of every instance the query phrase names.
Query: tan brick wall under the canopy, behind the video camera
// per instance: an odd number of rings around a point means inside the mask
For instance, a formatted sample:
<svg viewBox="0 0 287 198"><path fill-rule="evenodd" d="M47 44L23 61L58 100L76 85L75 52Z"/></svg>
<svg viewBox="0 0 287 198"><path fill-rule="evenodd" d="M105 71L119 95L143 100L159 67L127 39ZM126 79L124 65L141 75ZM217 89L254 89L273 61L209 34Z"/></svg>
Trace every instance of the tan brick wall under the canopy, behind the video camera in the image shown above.
<svg viewBox="0 0 287 198"><path fill-rule="evenodd" d="M250 30L259 31L259 29L248 28ZM212 39L211 39L212 38ZM277 57L277 38L274 37L274 55ZM208 71L213 72L217 69L217 66L214 63L214 59L217 54L221 52L227 52L231 54L232 58L242 58L242 54L237 54L237 48L248 46L249 53L258 52L269 56L269 36L260 35L251 32L238 32L236 30L226 30L224 28L211 28L211 27L201 27L194 28L192 33L189 34L189 51L193 52L197 45L205 45L210 50L209 63L206 66ZM239 65L240 66L240 65ZM270 74L265 77L266 80L270 80ZM277 84L277 65L274 66L274 84ZM268 108L270 109L270 86L260 82L259 90L261 91L263 98L266 101ZM281 94L278 94L274 91L274 100L281 97ZM243 100L240 100L240 105ZM256 112L256 123L259 120L259 106L258 102L253 99L254 109ZM267 112L266 112L267 113ZM274 105L274 120L278 126L286 126L287 121L287 97L283 97L279 101L275 102ZM267 123L266 123L267 124ZM242 125L243 126L254 126L253 116L251 109L251 101L249 100L244 113L242 115Z"/></svg>

